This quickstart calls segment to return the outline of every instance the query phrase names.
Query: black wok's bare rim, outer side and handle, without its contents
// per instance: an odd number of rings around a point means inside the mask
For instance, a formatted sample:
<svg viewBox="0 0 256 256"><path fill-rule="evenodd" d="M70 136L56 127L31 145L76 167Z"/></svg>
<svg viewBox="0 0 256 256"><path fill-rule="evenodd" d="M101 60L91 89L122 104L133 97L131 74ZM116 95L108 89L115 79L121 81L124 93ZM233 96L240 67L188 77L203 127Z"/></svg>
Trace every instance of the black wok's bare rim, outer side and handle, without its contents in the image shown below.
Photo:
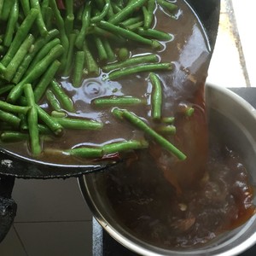
<svg viewBox="0 0 256 256"><path fill-rule="evenodd" d="M205 26L209 44L213 50L218 32L219 0L187 0ZM6 150L0 149L0 241L9 230L15 217L16 205L11 200L11 191L15 177L22 178L56 178L79 177L88 172L108 169L108 165L67 166L44 164L38 160L20 158Z"/></svg>

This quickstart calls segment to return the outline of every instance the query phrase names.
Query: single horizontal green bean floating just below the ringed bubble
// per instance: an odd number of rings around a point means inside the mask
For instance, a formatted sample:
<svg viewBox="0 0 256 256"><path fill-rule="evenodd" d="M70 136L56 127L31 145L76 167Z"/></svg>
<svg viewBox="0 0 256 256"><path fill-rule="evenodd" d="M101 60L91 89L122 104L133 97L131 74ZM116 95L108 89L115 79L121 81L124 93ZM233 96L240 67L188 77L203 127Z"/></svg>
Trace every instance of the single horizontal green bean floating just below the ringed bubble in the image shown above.
<svg viewBox="0 0 256 256"><path fill-rule="evenodd" d="M146 102L141 98L131 97L131 96L110 96L110 97L100 97L94 99L91 104L99 107L109 107L109 106L122 106L122 105L137 105L145 104Z"/></svg>

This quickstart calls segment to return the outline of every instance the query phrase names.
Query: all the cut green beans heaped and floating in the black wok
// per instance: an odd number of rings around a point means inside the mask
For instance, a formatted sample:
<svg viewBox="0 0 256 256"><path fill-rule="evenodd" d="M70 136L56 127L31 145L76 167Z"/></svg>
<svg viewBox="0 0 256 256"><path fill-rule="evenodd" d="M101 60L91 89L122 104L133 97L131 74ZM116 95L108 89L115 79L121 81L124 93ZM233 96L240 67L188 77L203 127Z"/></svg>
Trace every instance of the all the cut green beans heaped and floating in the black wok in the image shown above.
<svg viewBox="0 0 256 256"><path fill-rule="evenodd" d="M177 5L166 0L95 0L84 1L76 8L74 2L0 0L1 140L28 140L34 157L42 153L40 140L45 135L61 136L64 129L102 129L101 122L68 117L76 109L58 82L61 77L79 87L84 79L101 73L106 73L105 79L114 80L148 72L154 84L152 118L165 123L160 79L154 72L170 71L172 63L160 62L155 53L173 36L154 29L154 11L161 8L172 17ZM129 48L137 45L148 47L152 54L131 56ZM54 111L47 113L40 106L43 98ZM132 96L91 102L96 108L146 103ZM113 114L130 120L179 159L185 159L182 152L128 110L113 108ZM160 132L174 133L172 121L169 119ZM144 141L130 141L103 148L73 148L67 153L102 158L115 151L147 147Z"/></svg>

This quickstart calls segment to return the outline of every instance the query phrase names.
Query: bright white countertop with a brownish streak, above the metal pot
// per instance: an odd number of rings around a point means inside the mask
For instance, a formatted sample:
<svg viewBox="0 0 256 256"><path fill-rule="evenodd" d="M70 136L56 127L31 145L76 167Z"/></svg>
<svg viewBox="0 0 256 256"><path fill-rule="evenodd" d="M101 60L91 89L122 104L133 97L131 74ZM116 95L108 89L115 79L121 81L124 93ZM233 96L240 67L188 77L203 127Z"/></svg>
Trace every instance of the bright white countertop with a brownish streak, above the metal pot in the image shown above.
<svg viewBox="0 0 256 256"><path fill-rule="evenodd" d="M221 0L218 37L207 82L224 87L256 87L253 0Z"/></svg>

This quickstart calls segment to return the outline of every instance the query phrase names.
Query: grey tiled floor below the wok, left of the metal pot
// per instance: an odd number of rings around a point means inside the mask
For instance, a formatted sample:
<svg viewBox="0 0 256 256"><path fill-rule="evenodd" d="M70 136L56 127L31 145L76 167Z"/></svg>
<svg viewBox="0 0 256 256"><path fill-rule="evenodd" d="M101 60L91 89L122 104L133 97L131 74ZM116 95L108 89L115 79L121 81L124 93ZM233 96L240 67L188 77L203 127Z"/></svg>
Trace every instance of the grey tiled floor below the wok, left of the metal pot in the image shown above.
<svg viewBox="0 0 256 256"><path fill-rule="evenodd" d="M90 256L91 213L76 178L16 179L15 224L0 244L1 256Z"/></svg>

